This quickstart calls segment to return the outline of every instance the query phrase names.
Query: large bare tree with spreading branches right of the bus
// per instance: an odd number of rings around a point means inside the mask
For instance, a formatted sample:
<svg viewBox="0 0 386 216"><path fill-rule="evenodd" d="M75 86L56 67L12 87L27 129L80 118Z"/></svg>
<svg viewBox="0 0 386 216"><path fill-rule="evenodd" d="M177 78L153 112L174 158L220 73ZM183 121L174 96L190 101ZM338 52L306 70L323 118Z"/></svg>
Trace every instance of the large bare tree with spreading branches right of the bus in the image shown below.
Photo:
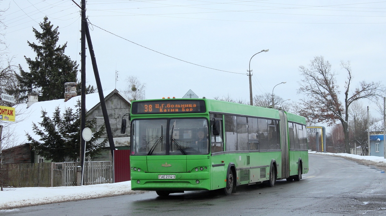
<svg viewBox="0 0 386 216"><path fill-rule="evenodd" d="M337 73L331 70L330 62L325 61L323 56L314 57L308 68L300 66L303 79L298 82L300 85L298 93L304 94L306 98L300 100L296 110L312 123L326 122L328 125L334 125L339 120L344 132L345 151L349 153L349 107L354 101L379 96L381 84L361 81L354 91L350 91L352 84L350 62L341 61L340 66L347 71L344 101L339 100L340 91L335 78Z"/></svg>

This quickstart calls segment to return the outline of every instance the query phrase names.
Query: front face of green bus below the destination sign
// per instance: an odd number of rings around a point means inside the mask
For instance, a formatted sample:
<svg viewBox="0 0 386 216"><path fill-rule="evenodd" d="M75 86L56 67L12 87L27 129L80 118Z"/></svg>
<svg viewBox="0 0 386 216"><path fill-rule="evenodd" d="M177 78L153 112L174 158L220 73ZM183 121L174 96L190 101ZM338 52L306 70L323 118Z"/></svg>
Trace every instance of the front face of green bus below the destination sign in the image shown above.
<svg viewBox="0 0 386 216"><path fill-rule="evenodd" d="M210 190L208 119L134 119L132 190Z"/></svg>

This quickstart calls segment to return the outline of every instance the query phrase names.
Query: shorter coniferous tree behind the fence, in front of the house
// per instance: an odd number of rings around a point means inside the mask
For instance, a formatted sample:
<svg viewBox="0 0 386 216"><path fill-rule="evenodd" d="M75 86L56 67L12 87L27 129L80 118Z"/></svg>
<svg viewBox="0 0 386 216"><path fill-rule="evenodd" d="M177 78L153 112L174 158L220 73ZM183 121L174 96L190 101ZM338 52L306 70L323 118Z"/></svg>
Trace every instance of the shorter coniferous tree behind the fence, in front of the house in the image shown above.
<svg viewBox="0 0 386 216"><path fill-rule="evenodd" d="M35 140L27 133L32 149L38 155L53 162L64 162L66 159L76 161L79 158L80 149L80 101L78 101L75 113L71 108L66 108L61 115L59 107L55 108L52 118L47 116L46 111L42 110L41 113L40 127L35 123L32 125L34 133L40 139ZM86 127L95 128L95 124L95 119L86 121ZM94 158L105 147L107 139L101 143L96 142L103 135L104 130L103 125L86 143L86 157Z"/></svg>

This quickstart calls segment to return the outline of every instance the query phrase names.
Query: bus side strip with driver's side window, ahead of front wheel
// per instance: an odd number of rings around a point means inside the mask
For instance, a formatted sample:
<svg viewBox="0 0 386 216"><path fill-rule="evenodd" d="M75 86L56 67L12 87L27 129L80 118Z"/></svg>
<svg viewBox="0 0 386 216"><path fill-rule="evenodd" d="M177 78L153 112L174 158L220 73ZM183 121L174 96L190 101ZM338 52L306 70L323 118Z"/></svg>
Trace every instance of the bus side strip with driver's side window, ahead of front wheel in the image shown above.
<svg viewBox="0 0 386 216"><path fill-rule="evenodd" d="M227 178L227 168L224 162L224 155L221 154L224 151L224 141L223 141L223 124L222 124L222 115L220 114L210 114L211 121L211 136L210 136L210 154L211 156L211 169L212 169L212 190L223 188L226 186L225 179ZM217 122L217 127L219 128L220 133L215 135L214 129ZM218 124L219 123L219 124Z"/></svg>

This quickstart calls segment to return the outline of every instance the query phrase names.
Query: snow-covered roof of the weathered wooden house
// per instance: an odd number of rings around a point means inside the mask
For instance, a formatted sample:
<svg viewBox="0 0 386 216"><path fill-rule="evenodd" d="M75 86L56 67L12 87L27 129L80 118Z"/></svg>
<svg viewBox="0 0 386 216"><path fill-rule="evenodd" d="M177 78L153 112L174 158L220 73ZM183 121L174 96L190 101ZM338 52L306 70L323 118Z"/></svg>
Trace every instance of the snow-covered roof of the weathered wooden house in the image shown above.
<svg viewBox="0 0 386 216"><path fill-rule="evenodd" d="M108 91L103 91L103 96L105 99L112 95L113 93L119 94L124 100L127 101L127 103L130 103L130 101L122 94L119 93L119 91L112 89ZM64 102L64 99L58 99L58 100L51 100L51 101L40 101L32 104L29 108L27 108L27 104L19 104L15 105L15 122L9 125L9 127L3 128L3 130L8 130L12 132L12 138L9 139L9 145L7 147L14 147L17 145L22 145L26 142L28 142L27 137L25 136L27 133L31 135L32 138L39 140L39 136L35 135L35 133L32 131L32 123L35 123L39 127L39 122L42 122L42 113L41 111L44 110L47 112L48 116L52 116L52 113L54 113L55 108L59 106L61 112L63 112L66 108L72 108L73 111L76 110L76 104L77 101L80 101L81 96L75 96L73 98L70 98L68 101ZM95 106L97 106L100 103L99 100L99 94L98 93L91 93L86 95L86 110L90 111ZM4 133L3 133L4 134ZM5 148L7 148L5 147Z"/></svg>

